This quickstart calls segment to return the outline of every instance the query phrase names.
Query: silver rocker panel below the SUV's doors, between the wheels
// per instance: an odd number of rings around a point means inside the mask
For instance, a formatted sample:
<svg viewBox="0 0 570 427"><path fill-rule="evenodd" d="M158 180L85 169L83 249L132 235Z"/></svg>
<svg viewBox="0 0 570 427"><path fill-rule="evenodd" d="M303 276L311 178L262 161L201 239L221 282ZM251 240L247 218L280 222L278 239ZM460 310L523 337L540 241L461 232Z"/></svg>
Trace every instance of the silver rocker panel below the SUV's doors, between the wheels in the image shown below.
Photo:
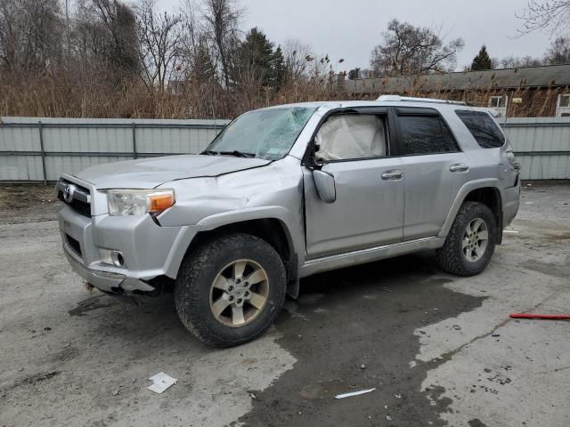
<svg viewBox="0 0 570 427"><path fill-rule="evenodd" d="M418 238L408 242L394 243L391 245L369 247L357 251L346 252L344 254L334 254L307 260L299 271L299 277L305 278L322 271L343 269L353 265L363 264L392 258L402 254L423 251L427 249L437 249L444 246L445 238Z"/></svg>

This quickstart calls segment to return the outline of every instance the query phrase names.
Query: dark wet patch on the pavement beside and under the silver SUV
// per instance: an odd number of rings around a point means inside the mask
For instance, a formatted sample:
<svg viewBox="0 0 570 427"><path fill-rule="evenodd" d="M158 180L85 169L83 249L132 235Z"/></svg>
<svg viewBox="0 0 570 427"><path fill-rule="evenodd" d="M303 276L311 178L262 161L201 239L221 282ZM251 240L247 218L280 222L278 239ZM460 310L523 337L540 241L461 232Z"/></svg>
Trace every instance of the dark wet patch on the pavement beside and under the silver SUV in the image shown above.
<svg viewBox="0 0 570 427"><path fill-rule="evenodd" d="M294 368L264 391L252 391L256 425L444 425L443 387L422 390L428 370L417 331L479 307L484 298L453 292L433 253L403 255L301 281L276 321ZM350 399L339 393L376 390ZM430 398L430 399L427 399Z"/></svg>

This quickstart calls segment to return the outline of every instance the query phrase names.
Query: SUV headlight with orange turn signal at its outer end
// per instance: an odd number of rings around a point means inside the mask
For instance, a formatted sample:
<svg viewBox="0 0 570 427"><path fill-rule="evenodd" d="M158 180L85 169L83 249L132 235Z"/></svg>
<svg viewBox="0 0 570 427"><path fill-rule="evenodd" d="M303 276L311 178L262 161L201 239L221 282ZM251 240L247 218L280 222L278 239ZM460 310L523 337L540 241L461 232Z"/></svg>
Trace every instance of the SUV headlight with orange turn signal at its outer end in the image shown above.
<svg viewBox="0 0 570 427"><path fill-rule="evenodd" d="M110 215L160 214L175 204L174 189L109 189Z"/></svg>

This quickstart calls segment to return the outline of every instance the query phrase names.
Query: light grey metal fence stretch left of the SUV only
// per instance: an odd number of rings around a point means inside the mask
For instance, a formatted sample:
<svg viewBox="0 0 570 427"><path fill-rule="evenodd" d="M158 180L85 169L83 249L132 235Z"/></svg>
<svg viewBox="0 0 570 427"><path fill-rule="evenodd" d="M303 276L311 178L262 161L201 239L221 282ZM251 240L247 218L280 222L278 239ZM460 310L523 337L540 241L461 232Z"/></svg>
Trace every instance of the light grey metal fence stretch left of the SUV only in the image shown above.
<svg viewBox="0 0 570 427"><path fill-rule="evenodd" d="M5 117L0 181L57 181L91 165L197 153L227 120L123 120Z"/></svg>

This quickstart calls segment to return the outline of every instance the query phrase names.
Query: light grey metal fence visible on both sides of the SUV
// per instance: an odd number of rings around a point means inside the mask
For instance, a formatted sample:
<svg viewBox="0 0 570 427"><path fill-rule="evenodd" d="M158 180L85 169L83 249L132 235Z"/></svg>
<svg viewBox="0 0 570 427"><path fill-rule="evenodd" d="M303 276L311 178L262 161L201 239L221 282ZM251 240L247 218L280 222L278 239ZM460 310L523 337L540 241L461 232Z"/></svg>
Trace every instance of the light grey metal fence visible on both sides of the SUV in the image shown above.
<svg viewBox="0 0 570 427"><path fill-rule="evenodd" d="M56 181L61 173L101 163L197 153L227 123L4 117L0 181ZM523 179L570 179L570 118L509 118L503 127Z"/></svg>

